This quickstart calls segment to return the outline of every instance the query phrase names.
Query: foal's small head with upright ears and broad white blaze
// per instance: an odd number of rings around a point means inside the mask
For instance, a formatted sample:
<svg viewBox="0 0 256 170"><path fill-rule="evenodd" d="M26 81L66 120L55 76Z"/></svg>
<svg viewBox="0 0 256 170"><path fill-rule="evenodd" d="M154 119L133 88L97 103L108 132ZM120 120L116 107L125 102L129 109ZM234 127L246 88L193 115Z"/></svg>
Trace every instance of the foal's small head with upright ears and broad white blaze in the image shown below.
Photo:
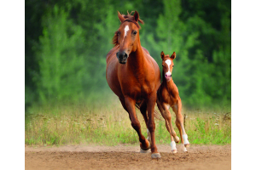
<svg viewBox="0 0 256 170"><path fill-rule="evenodd" d="M165 55L164 52L161 52L161 58L163 60L163 74L165 74L166 81L169 82L172 77L172 68L174 66L173 59L175 59L176 53L173 52L172 56L170 57L169 54Z"/></svg>

